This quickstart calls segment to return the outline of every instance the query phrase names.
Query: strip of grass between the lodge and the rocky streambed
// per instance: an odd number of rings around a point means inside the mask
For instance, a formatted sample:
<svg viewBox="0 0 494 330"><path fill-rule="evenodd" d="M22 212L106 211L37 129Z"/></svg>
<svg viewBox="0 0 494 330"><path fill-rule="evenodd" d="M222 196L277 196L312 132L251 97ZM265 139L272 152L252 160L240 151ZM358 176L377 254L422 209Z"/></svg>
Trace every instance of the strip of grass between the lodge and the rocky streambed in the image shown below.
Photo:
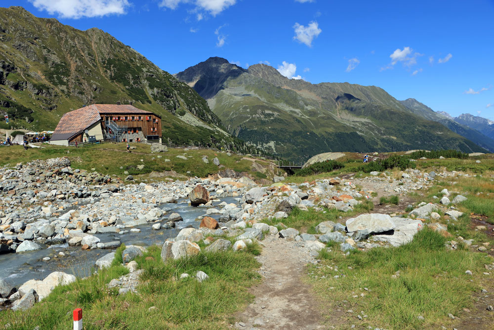
<svg viewBox="0 0 494 330"><path fill-rule="evenodd" d="M176 171L186 176L207 177L217 173L220 168L212 163L214 157L218 157L220 163L226 168L238 172L250 172L252 162L242 160L242 156L233 154L228 156L224 152L214 150L189 150L169 148L168 152L151 153L150 146L144 143L130 143L135 150L130 153L125 151L125 143L103 143L84 147L63 147L43 144L43 148L30 148L23 150L22 145L0 147L0 166L14 166L19 162L28 162L34 159L47 159L67 156L71 160L73 168L92 171L94 168L102 174L110 174L125 178L126 174L146 175L153 171ZM177 158L177 155L186 154L192 156L188 160ZM158 158L161 155L162 158ZM202 161L202 156L209 157L209 164ZM141 159L143 160L141 162ZM169 159L169 162L165 162ZM137 166L144 164L143 169ZM198 166L200 164L200 166ZM267 166L269 163L263 163ZM190 172L190 173L187 173ZM257 172L255 172L257 173ZM255 174L254 173L254 174ZM263 175L266 178L266 175Z"/></svg>

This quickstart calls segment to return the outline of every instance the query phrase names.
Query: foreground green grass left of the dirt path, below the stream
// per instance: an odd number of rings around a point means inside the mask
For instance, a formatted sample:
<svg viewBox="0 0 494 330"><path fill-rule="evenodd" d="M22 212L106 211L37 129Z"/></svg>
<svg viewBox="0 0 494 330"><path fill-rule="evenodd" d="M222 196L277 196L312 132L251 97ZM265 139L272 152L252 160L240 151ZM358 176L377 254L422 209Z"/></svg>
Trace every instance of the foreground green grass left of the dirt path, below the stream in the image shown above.
<svg viewBox="0 0 494 330"><path fill-rule="evenodd" d="M2 312L0 325L8 329L72 329L72 311L83 310L84 329L224 329L232 313L251 300L247 287L257 283L254 254L259 246L247 251L200 253L197 256L161 261L161 248L135 260L144 270L139 294L116 295L106 284L126 274L126 268L113 265L85 280L58 286L41 303L24 312ZM152 259L146 257L152 257ZM179 279L180 274L194 276L203 271L209 279L198 283L193 278ZM156 309L149 311L150 307Z"/></svg>

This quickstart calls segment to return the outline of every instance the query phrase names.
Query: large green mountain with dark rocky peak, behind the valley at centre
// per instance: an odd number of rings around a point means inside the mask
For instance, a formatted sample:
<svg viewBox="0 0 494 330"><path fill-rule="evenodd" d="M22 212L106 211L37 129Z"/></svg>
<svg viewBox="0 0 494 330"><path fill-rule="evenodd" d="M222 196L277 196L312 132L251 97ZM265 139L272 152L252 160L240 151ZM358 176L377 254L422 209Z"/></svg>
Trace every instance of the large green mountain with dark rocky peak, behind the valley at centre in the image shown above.
<svg viewBox="0 0 494 330"><path fill-rule="evenodd" d="M328 151L494 149L479 132L375 86L311 84L219 57L175 77L206 98L231 134L293 160Z"/></svg>

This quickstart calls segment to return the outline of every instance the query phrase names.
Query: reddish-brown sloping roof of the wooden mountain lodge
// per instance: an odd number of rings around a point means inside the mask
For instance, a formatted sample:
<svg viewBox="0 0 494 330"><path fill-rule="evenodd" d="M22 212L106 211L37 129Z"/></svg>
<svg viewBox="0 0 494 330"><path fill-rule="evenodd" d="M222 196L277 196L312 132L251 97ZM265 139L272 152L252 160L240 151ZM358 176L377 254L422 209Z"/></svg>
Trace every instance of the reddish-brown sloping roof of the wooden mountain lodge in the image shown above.
<svg viewBox="0 0 494 330"><path fill-rule="evenodd" d="M91 104L83 108L67 112L58 122L52 141L69 140L82 133L86 128L98 122L102 114L152 114L129 104Z"/></svg>

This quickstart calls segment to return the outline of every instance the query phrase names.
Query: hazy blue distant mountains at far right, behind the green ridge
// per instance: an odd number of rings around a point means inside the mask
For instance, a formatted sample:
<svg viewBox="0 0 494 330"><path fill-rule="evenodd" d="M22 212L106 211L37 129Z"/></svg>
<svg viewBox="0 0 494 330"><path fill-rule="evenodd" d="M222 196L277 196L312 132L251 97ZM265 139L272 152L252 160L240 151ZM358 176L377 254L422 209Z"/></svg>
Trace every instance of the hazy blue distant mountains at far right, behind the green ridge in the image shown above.
<svg viewBox="0 0 494 330"><path fill-rule="evenodd" d="M491 152L494 152L494 140L493 140L494 135L492 137L486 136L482 133L482 131L476 130L473 127L469 127L469 125L466 125L461 121L457 121L456 119L435 112L434 110L432 110L425 104L420 103L414 98L409 98L404 101L400 101L400 103L402 103L407 108L409 108L413 113L425 119L437 121L443 124L444 126L446 126L447 128L449 128L450 130L452 130L454 133L461 135L462 137L474 142L475 144Z"/></svg>

